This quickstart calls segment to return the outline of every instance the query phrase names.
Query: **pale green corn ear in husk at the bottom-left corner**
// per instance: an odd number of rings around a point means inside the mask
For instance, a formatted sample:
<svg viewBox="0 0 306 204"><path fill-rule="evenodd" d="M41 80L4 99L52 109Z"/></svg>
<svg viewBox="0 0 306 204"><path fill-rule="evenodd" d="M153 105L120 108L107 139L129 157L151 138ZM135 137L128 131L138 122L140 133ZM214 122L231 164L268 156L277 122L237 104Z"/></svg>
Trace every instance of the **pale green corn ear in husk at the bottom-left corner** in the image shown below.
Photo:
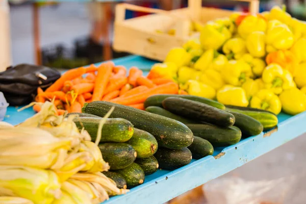
<svg viewBox="0 0 306 204"><path fill-rule="evenodd" d="M49 204L61 196L59 178L52 170L0 165L0 196L20 196L35 204Z"/></svg>

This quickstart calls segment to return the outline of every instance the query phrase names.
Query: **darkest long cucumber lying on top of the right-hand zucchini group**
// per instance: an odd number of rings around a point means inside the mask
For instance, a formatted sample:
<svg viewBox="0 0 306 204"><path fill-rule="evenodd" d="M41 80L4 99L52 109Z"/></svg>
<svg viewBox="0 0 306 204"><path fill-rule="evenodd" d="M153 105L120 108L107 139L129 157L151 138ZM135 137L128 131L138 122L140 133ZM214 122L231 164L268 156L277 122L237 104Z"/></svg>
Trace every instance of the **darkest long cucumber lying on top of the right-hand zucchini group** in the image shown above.
<svg viewBox="0 0 306 204"><path fill-rule="evenodd" d="M208 122L225 127L231 126L235 123L235 117L233 114L185 98L168 97L163 101L163 106L171 113L197 121Z"/></svg>

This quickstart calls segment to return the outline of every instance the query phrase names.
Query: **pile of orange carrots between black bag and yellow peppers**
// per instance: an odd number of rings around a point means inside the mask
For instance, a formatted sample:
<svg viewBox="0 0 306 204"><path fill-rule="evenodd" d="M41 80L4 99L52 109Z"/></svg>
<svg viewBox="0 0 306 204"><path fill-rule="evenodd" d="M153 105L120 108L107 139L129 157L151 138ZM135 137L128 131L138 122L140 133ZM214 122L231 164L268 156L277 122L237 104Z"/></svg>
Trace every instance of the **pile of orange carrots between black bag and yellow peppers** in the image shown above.
<svg viewBox="0 0 306 204"><path fill-rule="evenodd" d="M85 103L99 100L143 110L145 99L151 95L179 93L179 86L172 80L150 80L137 67L131 67L126 75L124 66L115 66L111 61L98 67L92 64L71 69L45 91L38 88L35 101L44 103L55 99L54 104L61 115L65 111L81 113ZM35 105L33 109L39 112L40 106Z"/></svg>

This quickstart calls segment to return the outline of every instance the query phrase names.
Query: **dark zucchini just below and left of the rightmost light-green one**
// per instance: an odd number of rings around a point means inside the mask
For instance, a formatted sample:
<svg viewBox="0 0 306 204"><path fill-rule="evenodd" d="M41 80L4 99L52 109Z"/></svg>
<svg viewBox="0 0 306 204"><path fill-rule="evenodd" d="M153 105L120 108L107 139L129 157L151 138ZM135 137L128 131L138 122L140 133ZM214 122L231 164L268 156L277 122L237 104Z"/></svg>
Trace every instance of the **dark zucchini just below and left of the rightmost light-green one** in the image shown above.
<svg viewBox="0 0 306 204"><path fill-rule="evenodd" d="M258 120L242 113L228 110L226 110L226 112L235 116L234 125L239 127L244 136L259 135L261 132L263 132L264 126Z"/></svg>

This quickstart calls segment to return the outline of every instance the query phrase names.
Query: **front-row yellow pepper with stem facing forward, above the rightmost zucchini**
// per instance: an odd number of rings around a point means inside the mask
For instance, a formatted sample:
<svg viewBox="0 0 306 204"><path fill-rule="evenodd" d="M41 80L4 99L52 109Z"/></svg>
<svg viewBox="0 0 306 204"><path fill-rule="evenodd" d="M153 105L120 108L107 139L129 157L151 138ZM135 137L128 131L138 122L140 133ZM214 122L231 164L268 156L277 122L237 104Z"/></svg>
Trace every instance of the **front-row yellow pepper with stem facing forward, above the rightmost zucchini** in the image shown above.
<svg viewBox="0 0 306 204"><path fill-rule="evenodd" d="M282 103L271 90L262 89L253 95L250 107L270 111L277 115L282 110Z"/></svg>

